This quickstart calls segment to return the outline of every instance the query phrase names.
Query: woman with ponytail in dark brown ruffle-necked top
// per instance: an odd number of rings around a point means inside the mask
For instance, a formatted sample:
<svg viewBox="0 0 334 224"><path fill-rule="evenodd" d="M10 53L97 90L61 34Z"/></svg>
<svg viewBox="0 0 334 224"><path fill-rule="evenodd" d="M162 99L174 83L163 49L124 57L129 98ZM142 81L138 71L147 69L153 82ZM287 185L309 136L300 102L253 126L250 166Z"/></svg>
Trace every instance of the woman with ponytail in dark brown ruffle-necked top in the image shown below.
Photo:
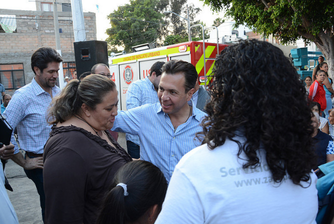
<svg viewBox="0 0 334 224"><path fill-rule="evenodd" d="M117 169L131 161L107 131L117 115L110 79L71 80L52 100L44 146L45 223L94 223Z"/></svg>

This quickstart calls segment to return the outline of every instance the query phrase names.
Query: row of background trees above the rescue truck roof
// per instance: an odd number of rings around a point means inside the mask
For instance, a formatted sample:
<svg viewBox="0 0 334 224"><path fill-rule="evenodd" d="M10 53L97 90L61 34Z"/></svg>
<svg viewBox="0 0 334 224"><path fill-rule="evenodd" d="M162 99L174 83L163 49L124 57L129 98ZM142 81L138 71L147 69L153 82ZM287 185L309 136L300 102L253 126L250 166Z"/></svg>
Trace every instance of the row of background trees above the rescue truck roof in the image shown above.
<svg viewBox="0 0 334 224"><path fill-rule="evenodd" d="M142 43L170 45L188 41L186 0L130 0L128 4L118 6L108 15L111 28L106 30L109 37L109 51L131 51L131 47ZM195 20L200 8L188 5L190 26L202 23ZM163 14L164 11L174 13ZM205 24L203 24L205 26ZM200 28L191 29L192 40L202 39ZM205 35L207 38L207 35ZM118 50L117 50L118 46ZM119 46L122 46L121 49Z"/></svg>

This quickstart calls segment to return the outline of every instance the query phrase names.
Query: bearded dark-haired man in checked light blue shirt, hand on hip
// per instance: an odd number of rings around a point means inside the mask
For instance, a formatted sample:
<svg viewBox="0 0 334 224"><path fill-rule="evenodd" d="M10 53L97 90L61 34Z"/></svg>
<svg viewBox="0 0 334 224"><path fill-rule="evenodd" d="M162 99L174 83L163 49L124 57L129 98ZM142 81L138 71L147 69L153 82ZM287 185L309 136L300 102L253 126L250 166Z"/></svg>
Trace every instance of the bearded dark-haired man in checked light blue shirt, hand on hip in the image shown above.
<svg viewBox="0 0 334 224"><path fill-rule="evenodd" d="M36 185L44 221L45 195L43 189L43 147L48 139L51 126L46 121L47 108L52 97L60 92L55 85L58 77L59 53L49 47L38 48L31 56L31 69L35 77L29 84L17 89L6 107L3 116L17 135L25 157L19 152L14 136L14 162L24 168L26 176Z"/></svg>

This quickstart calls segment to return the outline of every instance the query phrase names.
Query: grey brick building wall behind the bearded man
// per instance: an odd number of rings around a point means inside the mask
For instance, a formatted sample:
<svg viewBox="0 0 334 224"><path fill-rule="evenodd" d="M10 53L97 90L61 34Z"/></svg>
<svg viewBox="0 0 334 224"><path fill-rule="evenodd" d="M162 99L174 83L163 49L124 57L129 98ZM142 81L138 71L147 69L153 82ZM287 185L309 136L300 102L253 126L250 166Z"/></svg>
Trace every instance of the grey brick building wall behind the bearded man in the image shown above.
<svg viewBox="0 0 334 224"><path fill-rule="evenodd" d="M27 84L34 77L30 67L32 53L43 46L55 48L53 12L0 9L1 15L16 15L17 32L0 32L0 64L23 63ZM84 12L83 16L86 40L96 39L95 13ZM59 33L60 48L64 62L75 61L71 18L71 12L58 11L58 24L62 31Z"/></svg>

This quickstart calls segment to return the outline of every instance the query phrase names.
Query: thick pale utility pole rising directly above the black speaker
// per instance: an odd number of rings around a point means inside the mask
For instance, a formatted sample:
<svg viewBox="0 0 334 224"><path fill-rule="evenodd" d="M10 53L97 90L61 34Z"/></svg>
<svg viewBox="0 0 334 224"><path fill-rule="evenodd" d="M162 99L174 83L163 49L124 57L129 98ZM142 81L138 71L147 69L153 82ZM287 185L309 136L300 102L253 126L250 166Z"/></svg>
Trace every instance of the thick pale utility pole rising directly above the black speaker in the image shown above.
<svg viewBox="0 0 334 224"><path fill-rule="evenodd" d="M81 0L71 0L74 42L86 40Z"/></svg>

